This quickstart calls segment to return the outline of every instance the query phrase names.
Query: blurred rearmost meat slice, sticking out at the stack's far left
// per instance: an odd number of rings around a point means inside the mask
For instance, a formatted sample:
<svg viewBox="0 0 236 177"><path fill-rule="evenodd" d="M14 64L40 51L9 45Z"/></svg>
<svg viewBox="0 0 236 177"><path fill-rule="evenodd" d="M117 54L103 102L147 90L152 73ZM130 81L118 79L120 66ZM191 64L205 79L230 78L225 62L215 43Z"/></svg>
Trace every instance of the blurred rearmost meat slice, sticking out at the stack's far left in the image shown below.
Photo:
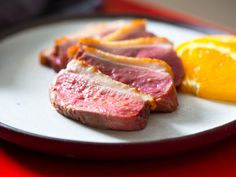
<svg viewBox="0 0 236 177"><path fill-rule="evenodd" d="M77 43L82 37L102 38L125 25L123 21L113 23L97 23L91 24L81 29L73 35L63 36L54 41L54 46L44 49L40 52L40 63L53 68L56 72L65 68L69 59L67 57L67 49Z"/></svg>

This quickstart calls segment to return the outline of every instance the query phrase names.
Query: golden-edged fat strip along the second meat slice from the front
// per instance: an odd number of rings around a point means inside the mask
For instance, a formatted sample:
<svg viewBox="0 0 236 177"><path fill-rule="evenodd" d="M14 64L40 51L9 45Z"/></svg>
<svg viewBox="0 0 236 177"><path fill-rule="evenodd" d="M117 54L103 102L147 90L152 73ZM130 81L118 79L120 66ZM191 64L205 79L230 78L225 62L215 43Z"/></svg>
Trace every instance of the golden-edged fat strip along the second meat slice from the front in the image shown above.
<svg viewBox="0 0 236 177"><path fill-rule="evenodd" d="M162 64L159 64L158 62L154 62L153 59L150 59L150 62L142 62L141 61L142 59L140 59L140 58L112 55L110 53L106 53L106 52L102 52L102 51L99 51L99 52L86 51L85 54L88 56L91 56L91 57L98 58L99 60L103 60L103 61L107 61L107 62L115 62L120 65L126 65L126 66L128 65L130 67L139 66L139 67L143 67L143 68L152 70L157 73L159 73L159 72L169 73L168 70Z"/></svg>

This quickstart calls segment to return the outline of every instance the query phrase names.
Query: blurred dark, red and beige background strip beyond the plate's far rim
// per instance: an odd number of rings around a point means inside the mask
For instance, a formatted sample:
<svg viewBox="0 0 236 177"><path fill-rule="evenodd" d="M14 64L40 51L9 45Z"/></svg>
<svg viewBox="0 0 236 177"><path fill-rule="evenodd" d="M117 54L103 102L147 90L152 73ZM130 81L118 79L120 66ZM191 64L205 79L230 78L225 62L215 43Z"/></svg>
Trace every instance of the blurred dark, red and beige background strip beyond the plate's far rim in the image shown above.
<svg viewBox="0 0 236 177"><path fill-rule="evenodd" d="M153 9L169 9L180 14L187 14L224 27L236 29L236 0L0 0L0 30L7 30L11 26L50 15L91 14L96 12L116 12L114 9L106 11L112 4L133 3ZM125 6L124 6L125 7ZM135 6L131 6L135 8ZM118 8L118 7L117 7ZM123 12L125 13L124 8ZM133 9L135 12L135 9ZM131 12L133 12L131 10ZM145 14L143 12L140 12ZM137 12L136 12L137 14Z"/></svg>

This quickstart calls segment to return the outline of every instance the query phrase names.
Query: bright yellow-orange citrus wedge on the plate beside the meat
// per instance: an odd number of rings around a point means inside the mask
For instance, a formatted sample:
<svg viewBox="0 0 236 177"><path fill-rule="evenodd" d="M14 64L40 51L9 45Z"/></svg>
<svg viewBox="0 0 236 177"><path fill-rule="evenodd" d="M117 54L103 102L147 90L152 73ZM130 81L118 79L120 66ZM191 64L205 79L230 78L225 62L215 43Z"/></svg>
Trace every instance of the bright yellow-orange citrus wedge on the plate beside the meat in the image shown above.
<svg viewBox="0 0 236 177"><path fill-rule="evenodd" d="M204 36L176 50L185 69L181 91L236 102L236 36Z"/></svg>

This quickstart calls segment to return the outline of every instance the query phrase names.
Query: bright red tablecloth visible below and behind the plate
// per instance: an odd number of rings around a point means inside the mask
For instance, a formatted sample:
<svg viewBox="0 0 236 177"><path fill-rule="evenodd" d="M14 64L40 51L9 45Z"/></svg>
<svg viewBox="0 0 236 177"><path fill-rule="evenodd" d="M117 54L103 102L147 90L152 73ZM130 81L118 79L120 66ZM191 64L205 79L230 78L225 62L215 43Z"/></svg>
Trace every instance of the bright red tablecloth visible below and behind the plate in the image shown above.
<svg viewBox="0 0 236 177"><path fill-rule="evenodd" d="M132 12L186 23L215 26L182 14L138 4L106 0L103 12ZM177 156L129 162L82 161L47 156L0 141L0 177L42 176L236 176L236 136Z"/></svg>

